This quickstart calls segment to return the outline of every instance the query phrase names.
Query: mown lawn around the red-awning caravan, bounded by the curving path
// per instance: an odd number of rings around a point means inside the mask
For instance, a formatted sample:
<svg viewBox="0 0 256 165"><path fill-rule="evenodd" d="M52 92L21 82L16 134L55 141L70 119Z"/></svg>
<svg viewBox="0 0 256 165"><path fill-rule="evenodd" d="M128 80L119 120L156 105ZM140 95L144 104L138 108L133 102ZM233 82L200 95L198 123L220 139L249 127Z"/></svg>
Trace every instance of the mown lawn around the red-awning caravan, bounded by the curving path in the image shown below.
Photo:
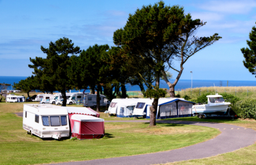
<svg viewBox="0 0 256 165"><path fill-rule="evenodd" d="M23 103L0 103L1 165L55 163L146 154L193 145L220 134L217 129L201 126L157 124L156 127L148 127L148 123L105 123L106 136L103 139L42 140L36 136L31 137L22 129L22 118L13 114L22 111Z"/></svg>

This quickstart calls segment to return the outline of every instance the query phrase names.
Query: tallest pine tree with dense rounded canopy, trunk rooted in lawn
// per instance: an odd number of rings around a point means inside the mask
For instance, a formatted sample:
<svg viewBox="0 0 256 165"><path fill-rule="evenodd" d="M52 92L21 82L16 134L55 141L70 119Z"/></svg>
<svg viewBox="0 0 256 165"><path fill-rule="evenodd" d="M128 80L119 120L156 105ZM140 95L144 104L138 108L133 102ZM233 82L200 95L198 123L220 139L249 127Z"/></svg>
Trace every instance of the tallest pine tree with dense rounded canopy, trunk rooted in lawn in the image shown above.
<svg viewBox="0 0 256 165"><path fill-rule="evenodd" d="M150 94L148 96L154 97L150 108L150 126L156 125L158 98L165 95L159 89L161 70L165 70L164 64L175 51L172 43L183 34L186 19L182 7L166 6L160 1L129 14L125 27L114 32L114 44L121 47L123 53L134 62L133 66L145 82L140 73L143 67L148 66L154 71L155 92L147 92Z"/></svg>

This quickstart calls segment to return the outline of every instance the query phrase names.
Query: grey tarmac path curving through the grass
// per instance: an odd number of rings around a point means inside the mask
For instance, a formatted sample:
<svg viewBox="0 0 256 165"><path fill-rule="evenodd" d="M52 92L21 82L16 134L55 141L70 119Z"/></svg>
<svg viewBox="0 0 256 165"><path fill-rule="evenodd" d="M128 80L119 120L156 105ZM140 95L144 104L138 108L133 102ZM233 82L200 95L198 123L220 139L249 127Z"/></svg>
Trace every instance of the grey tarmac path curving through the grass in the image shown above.
<svg viewBox="0 0 256 165"><path fill-rule="evenodd" d="M143 122L146 120L120 120L105 122ZM115 157L108 159L95 159L81 162L65 162L55 165L151 165L163 164L167 162L177 162L189 159L201 159L212 157L218 154L235 151L237 149L252 145L256 142L256 131L246 129L240 126L234 126L224 123L209 123L195 121L173 121L173 120L157 120L157 123L175 123L188 124L195 126L207 126L219 129L221 134L214 139L203 143L190 145L188 147L174 149L171 151L163 151L152 154L134 155L128 157Z"/></svg>

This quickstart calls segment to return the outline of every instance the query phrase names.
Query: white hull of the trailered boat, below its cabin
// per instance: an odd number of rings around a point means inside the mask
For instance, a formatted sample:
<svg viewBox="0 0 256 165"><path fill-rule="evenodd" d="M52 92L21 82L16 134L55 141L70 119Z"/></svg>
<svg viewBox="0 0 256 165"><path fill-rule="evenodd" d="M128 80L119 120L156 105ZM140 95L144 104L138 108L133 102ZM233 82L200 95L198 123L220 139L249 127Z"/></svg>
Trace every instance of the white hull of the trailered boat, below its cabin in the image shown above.
<svg viewBox="0 0 256 165"><path fill-rule="evenodd" d="M230 104L223 104L223 105L212 105L212 106L207 106L209 104L204 104L204 105L195 105L192 106L192 113L199 114L199 113L204 113L204 114L212 114L212 115L224 115L227 112L228 105Z"/></svg>

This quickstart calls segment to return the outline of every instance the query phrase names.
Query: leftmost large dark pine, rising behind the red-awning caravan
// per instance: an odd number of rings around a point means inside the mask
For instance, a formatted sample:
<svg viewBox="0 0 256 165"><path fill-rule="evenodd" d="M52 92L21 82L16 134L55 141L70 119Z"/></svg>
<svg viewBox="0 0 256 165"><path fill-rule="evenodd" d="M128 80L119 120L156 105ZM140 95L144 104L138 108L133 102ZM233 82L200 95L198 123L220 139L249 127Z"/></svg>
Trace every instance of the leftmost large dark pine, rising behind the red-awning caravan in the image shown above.
<svg viewBox="0 0 256 165"><path fill-rule="evenodd" d="M81 50L78 46L74 47L72 40L65 37L50 42L49 48L41 46L41 50L47 54L47 57L45 59L42 57L30 58L33 64L29 64L29 67L33 68L33 74L40 78L39 83L50 84L55 90L61 92L64 99L63 106L66 106L66 91L73 87L68 77L71 64L70 55L81 53Z"/></svg>

